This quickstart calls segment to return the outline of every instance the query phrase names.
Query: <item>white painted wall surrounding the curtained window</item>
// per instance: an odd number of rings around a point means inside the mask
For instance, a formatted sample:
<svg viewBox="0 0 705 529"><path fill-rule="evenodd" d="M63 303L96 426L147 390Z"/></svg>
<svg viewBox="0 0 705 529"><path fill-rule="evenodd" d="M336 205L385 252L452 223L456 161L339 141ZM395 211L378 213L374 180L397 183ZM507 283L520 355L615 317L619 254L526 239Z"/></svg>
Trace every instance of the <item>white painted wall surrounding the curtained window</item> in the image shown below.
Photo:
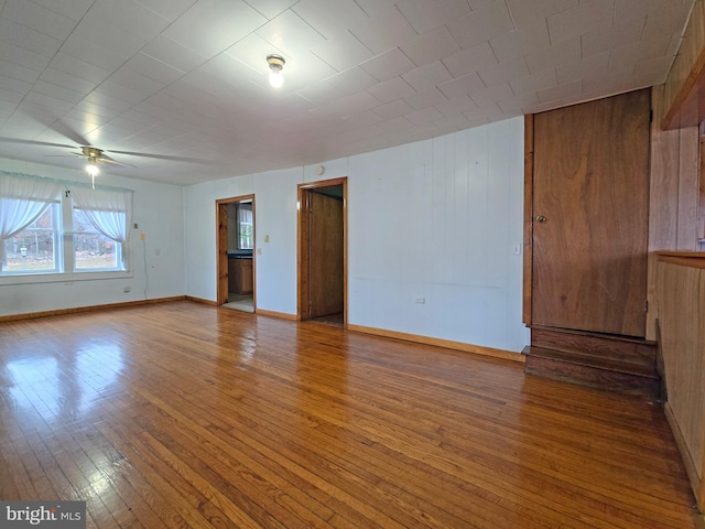
<svg viewBox="0 0 705 529"><path fill-rule="evenodd" d="M73 182L87 179L84 171L15 160L0 159L0 169ZM132 237L131 273L100 280L67 281L54 276L50 282L35 282L30 278L13 284L0 279L0 315L184 295L184 188L109 174L99 179L106 185L134 190L133 222L140 229ZM145 234L144 242L139 233ZM129 293L124 287L130 287Z"/></svg>

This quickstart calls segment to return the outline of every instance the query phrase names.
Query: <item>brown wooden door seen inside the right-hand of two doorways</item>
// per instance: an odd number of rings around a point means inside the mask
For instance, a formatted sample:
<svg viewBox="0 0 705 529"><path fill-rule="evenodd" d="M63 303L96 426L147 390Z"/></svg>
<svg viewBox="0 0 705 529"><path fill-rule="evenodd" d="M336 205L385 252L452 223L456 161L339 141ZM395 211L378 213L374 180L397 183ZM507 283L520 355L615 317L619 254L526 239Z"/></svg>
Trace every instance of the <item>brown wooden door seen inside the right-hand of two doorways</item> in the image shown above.
<svg viewBox="0 0 705 529"><path fill-rule="evenodd" d="M343 312L343 199L312 191L308 222L308 317Z"/></svg>

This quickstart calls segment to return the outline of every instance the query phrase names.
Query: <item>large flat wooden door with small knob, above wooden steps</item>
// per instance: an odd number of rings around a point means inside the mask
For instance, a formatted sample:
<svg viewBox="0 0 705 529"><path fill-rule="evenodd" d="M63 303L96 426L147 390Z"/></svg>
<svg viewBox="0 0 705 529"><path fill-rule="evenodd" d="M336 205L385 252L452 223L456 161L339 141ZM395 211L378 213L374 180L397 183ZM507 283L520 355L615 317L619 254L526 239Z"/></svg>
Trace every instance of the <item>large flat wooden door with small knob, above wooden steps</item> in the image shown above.
<svg viewBox="0 0 705 529"><path fill-rule="evenodd" d="M644 336L648 90L534 116L532 325Z"/></svg>

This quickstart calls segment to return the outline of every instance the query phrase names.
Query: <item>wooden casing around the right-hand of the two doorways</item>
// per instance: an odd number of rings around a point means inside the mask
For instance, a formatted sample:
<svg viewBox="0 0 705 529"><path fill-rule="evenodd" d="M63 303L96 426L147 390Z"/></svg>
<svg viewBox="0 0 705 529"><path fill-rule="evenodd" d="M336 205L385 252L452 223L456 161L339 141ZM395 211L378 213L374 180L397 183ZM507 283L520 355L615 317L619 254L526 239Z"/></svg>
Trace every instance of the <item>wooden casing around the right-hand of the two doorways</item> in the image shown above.
<svg viewBox="0 0 705 529"><path fill-rule="evenodd" d="M348 179L319 180L297 186L296 207L296 320L310 317L308 218L304 215L308 193L322 187L343 186L343 325L348 324Z"/></svg>

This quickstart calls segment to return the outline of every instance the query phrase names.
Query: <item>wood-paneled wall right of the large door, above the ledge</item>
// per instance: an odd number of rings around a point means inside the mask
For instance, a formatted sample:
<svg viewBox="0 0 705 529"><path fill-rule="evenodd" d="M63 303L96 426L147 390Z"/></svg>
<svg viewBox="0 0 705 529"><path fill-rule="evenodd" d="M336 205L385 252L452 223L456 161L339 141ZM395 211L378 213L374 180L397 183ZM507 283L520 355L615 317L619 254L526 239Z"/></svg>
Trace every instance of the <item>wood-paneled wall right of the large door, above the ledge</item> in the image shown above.
<svg viewBox="0 0 705 529"><path fill-rule="evenodd" d="M654 116L664 112L665 86L651 94ZM695 251L698 237L699 132L697 127L662 130L651 123L651 191L649 204L649 278L647 338L655 339L655 251Z"/></svg>

